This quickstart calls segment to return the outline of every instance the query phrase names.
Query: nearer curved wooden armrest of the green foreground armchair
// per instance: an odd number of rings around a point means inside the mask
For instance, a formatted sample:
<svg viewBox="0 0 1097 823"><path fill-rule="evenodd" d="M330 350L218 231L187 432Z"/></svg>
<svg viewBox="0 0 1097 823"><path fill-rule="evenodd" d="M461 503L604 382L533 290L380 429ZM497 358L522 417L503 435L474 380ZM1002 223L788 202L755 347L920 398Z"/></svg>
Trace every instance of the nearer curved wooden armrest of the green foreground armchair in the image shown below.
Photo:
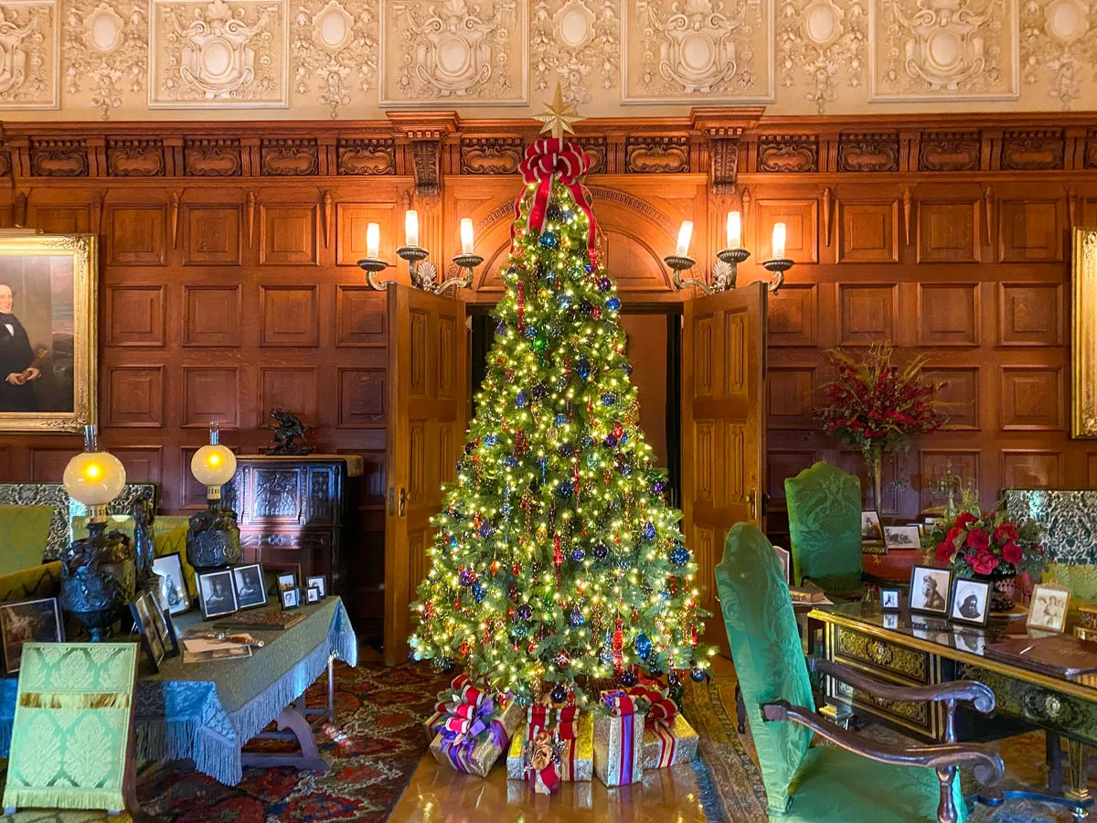
<svg viewBox="0 0 1097 823"><path fill-rule="evenodd" d="M761 715L767 722L787 720L811 729L824 740L847 752L895 766L919 766L943 769L964 767L974 771L975 779L983 786L995 786L1005 773L1005 765L989 746L975 743L946 743L934 746L887 746L848 732L829 722L821 714L800 706L779 700L761 704Z"/></svg>

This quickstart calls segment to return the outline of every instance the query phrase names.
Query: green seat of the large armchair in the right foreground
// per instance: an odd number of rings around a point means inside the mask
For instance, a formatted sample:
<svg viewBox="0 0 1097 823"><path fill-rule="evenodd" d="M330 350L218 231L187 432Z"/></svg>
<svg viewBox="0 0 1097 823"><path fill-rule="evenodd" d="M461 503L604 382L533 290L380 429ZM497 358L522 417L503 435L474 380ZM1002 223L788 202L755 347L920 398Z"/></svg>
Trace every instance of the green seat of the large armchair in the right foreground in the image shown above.
<svg viewBox="0 0 1097 823"><path fill-rule="evenodd" d="M934 769L892 766L817 746L807 752L789 787L792 802L781 823L937 823L940 789ZM959 820L968 818L957 781Z"/></svg>

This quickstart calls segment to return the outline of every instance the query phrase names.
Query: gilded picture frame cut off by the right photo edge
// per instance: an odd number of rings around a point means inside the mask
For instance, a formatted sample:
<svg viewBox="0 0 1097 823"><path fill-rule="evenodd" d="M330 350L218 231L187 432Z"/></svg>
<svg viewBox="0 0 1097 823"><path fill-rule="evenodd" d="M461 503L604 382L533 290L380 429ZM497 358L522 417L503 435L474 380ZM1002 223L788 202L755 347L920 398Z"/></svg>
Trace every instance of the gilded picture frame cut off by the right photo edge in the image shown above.
<svg viewBox="0 0 1097 823"><path fill-rule="evenodd" d="M1097 438L1097 229L1074 229L1071 436Z"/></svg>

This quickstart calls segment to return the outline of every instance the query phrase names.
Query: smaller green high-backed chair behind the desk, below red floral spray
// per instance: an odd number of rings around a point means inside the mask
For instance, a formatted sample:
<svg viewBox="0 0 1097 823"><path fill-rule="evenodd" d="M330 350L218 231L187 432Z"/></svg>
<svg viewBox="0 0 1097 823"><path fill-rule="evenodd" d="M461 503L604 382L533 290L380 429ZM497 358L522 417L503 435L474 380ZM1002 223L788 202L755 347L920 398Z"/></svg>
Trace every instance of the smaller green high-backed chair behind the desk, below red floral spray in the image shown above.
<svg viewBox="0 0 1097 823"><path fill-rule="evenodd" d="M784 481L793 585L806 577L828 595L860 597L861 481L821 461Z"/></svg>

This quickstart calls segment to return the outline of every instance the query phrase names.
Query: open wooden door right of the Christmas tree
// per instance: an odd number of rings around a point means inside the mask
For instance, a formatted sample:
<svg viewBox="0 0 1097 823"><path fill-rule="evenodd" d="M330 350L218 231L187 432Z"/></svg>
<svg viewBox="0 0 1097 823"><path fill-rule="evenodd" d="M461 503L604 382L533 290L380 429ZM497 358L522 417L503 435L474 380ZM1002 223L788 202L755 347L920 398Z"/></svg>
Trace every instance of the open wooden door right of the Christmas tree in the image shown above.
<svg viewBox="0 0 1097 823"><path fill-rule="evenodd" d="M728 654L714 570L737 522L762 526L766 304L762 282L686 301L682 531L698 564L704 636Z"/></svg>

